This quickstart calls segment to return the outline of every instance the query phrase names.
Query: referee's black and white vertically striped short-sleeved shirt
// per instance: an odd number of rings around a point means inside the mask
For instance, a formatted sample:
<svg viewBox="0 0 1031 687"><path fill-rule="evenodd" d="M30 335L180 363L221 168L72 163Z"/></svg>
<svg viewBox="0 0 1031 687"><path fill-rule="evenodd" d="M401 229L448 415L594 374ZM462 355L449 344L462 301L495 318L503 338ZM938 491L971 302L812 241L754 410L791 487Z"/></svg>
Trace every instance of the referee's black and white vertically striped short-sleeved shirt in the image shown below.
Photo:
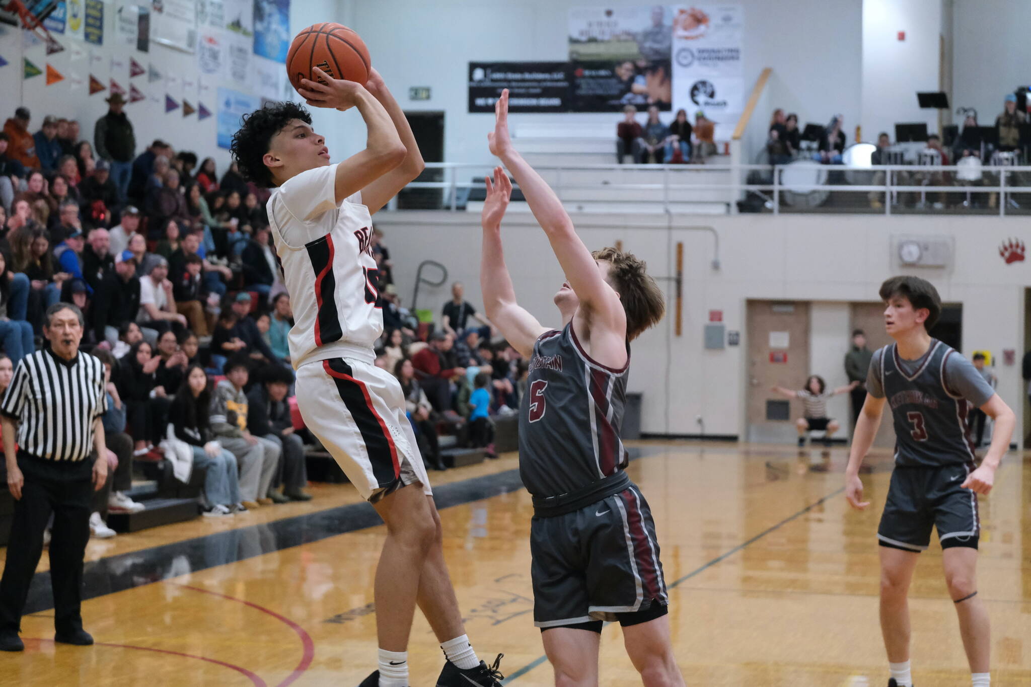
<svg viewBox="0 0 1031 687"><path fill-rule="evenodd" d="M94 421L107 410L104 366L79 352L71 360L48 348L22 358L0 413L18 420L19 449L48 460L84 460Z"/></svg>

